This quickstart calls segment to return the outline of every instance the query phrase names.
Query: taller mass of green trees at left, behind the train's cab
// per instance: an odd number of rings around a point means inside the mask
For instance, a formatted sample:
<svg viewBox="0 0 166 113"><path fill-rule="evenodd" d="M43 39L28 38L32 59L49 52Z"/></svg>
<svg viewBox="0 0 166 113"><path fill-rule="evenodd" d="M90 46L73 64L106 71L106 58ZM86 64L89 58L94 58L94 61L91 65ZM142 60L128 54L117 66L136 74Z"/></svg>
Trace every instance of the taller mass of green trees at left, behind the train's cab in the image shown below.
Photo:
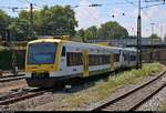
<svg viewBox="0 0 166 113"><path fill-rule="evenodd" d="M30 12L22 10L18 18L12 18L9 24L8 16L0 11L0 27L9 28L14 40L28 40L31 34L37 35L59 35L75 34L77 21L74 11L70 6L44 7L33 11L33 27L30 24ZM3 25L1 25L3 24ZM32 29L32 32L31 32ZM32 38L30 38L32 39Z"/></svg>

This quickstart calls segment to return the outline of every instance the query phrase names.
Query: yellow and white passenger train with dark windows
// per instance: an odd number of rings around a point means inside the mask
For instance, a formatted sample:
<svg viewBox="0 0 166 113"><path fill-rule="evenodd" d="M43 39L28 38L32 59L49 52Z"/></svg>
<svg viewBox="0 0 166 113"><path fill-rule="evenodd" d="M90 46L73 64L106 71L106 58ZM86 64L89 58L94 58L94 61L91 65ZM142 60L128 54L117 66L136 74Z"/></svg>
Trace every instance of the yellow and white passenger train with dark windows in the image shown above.
<svg viewBox="0 0 166 113"><path fill-rule="evenodd" d="M51 88L60 80L89 78L136 65L134 48L69 41L65 37L30 41L25 54L29 86Z"/></svg>

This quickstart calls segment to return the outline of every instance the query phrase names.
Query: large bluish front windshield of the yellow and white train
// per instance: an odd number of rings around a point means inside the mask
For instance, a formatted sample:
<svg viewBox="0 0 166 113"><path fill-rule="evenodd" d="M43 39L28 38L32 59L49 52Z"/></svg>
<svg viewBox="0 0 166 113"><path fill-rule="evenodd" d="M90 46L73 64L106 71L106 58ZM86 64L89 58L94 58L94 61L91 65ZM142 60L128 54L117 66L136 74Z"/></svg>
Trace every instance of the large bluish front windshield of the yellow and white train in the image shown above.
<svg viewBox="0 0 166 113"><path fill-rule="evenodd" d="M28 49L28 64L53 64L58 44L50 42L32 43Z"/></svg>

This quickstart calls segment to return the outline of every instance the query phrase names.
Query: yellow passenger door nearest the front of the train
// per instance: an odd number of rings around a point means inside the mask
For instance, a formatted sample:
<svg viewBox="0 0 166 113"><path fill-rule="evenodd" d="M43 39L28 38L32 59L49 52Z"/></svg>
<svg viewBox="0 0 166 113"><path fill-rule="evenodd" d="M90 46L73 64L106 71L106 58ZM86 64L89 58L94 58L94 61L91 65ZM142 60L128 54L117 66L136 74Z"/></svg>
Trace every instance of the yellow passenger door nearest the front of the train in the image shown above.
<svg viewBox="0 0 166 113"><path fill-rule="evenodd" d="M83 76L89 76L89 51L83 50Z"/></svg>

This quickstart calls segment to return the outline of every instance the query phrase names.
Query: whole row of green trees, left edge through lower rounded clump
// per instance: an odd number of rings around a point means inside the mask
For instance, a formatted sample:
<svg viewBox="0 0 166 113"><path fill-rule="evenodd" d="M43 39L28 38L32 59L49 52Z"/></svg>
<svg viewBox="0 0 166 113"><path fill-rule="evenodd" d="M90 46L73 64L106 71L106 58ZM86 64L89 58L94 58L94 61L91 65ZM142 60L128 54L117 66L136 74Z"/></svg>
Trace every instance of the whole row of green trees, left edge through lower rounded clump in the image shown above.
<svg viewBox="0 0 166 113"><path fill-rule="evenodd" d="M86 30L81 29L76 32L77 21L74 14L70 6L45 6L41 10L33 11L33 27L31 27L30 12L22 10L18 18L10 18L0 10L0 34L4 37L4 30L9 29L12 40L28 40L31 34L34 37L68 34L75 35L83 42L94 39L108 40L128 37L125 28L112 21L102 24L100 28L90 27Z"/></svg>

